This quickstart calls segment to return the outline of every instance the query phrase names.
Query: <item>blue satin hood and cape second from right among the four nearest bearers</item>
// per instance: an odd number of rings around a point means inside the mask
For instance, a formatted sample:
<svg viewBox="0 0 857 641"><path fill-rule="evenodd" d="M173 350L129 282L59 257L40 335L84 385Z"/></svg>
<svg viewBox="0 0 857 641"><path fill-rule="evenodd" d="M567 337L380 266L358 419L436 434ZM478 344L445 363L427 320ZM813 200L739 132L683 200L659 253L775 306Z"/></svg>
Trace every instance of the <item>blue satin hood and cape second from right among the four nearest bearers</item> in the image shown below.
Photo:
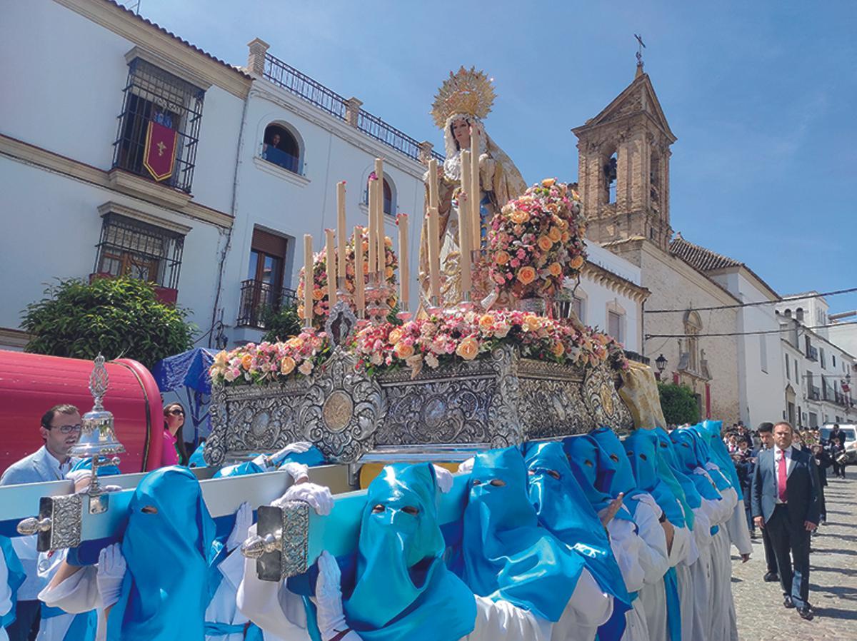
<svg viewBox="0 0 857 641"><path fill-rule="evenodd" d="M539 527L515 447L481 452L470 473L461 542L462 578L477 595L558 621L584 562Z"/></svg>

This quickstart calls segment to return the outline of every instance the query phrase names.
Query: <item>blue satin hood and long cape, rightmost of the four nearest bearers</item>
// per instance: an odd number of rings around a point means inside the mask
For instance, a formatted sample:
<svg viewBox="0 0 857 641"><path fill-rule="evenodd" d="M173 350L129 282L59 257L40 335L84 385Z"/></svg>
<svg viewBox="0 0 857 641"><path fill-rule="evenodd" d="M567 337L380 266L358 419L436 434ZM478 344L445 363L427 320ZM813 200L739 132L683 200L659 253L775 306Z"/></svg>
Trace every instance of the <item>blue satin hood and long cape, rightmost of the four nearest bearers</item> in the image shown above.
<svg viewBox="0 0 857 641"><path fill-rule="evenodd" d="M574 478L562 444L533 443L526 447L524 462L530 503L536 508L539 524L579 554L601 589L613 596L613 614L598 628L598 638L618 641L625 632L631 596L601 519Z"/></svg>

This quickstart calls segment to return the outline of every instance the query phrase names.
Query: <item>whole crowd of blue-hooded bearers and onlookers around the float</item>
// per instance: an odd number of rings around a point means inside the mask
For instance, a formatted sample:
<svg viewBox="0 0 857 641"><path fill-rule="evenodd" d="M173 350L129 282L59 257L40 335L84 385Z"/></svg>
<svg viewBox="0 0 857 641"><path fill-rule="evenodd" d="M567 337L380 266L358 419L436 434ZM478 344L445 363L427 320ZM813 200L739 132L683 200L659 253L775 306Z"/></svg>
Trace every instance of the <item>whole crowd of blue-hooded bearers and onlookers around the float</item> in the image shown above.
<svg viewBox="0 0 857 641"><path fill-rule="evenodd" d="M833 455L787 422L751 433L708 421L623 439L599 428L482 452L458 467L466 500L453 528L439 520L449 470L388 465L369 485L355 553L321 554L303 580L277 583L238 552L255 534L249 504L215 527L188 470L205 463L188 455L183 421L180 404L165 406L164 467L137 485L121 541L98 563L0 537L0 639L731 641L730 549L748 560L757 532L765 580L812 619L809 535L824 523L819 470ZM87 461L69 457L78 410L51 408L39 430L45 445L0 484L65 476L85 491ZM285 466L294 484L273 505L303 500L327 515L333 495L307 470L323 463L296 443L215 476Z"/></svg>

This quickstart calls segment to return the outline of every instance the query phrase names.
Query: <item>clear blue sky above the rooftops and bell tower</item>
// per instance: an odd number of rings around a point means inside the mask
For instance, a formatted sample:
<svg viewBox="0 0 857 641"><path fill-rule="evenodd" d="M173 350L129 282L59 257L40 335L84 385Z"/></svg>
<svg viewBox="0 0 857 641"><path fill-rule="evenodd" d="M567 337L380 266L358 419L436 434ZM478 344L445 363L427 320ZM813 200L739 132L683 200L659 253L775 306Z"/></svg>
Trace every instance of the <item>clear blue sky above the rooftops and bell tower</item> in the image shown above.
<svg viewBox="0 0 857 641"><path fill-rule="evenodd" d="M532 183L577 177L570 129L632 81L642 33L671 129L671 223L781 295L857 286L857 3L142 0L229 63L270 52L417 140L451 69L494 76L486 128ZM831 312L857 295L830 297Z"/></svg>

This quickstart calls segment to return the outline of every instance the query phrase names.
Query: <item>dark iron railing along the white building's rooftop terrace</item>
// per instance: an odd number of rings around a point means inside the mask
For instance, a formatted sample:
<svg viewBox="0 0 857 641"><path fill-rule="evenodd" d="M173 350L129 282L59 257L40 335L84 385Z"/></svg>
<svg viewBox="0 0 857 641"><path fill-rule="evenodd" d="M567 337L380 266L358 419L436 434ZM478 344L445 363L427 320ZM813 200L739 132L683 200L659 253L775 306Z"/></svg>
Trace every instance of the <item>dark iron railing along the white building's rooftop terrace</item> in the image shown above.
<svg viewBox="0 0 857 641"><path fill-rule="evenodd" d="M311 105L326 111L331 116L343 121L346 119L348 100L345 97L271 54L265 54L263 77L265 80L273 82L277 87L294 93ZM385 123L381 118L370 114L369 111L363 111L363 109L359 111L357 129L370 138L375 138L376 141L381 141L388 147L393 147L396 151L404 153L408 158L420 159L420 143L417 139L411 138L410 135L399 131L393 125ZM432 151L432 156L438 159L440 163L444 160L440 153Z"/></svg>

